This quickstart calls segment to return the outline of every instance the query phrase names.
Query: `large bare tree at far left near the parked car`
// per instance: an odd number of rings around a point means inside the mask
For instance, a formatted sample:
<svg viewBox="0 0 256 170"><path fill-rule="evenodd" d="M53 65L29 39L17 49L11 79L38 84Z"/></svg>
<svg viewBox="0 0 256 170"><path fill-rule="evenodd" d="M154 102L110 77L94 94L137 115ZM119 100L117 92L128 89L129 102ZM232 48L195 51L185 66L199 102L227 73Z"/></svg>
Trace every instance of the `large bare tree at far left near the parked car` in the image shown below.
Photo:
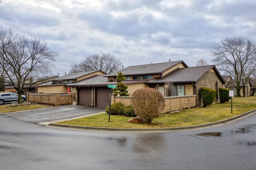
<svg viewBox="0 0 256 170"><path fill-rule="evenodd" d="M32 85L25 87L26 82L48 75L57 56L41 39L0 27L0 69L4 72L4 82L17 90L19 103L22 103L22 92Z"/></svg>

